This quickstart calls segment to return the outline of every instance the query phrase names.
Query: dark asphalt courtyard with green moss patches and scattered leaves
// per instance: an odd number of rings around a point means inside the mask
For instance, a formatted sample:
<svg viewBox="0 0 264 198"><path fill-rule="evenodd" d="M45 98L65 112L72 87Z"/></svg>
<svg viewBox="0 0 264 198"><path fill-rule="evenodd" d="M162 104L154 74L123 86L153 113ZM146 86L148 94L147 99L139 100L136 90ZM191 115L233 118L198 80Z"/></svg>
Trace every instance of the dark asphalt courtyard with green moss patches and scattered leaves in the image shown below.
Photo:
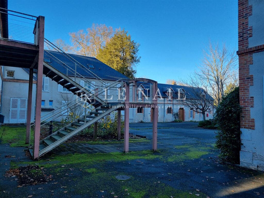
<svg viewBox="0 0 264 198"><path fill-rule="evenodd" d="M31 161L25 148L0 144L0 197L264 197L262 172L219 163L214 130L158 123L157 152L152 123L132 123L130 133L147 138L130 140L127 154L122 142L78 142ZM28 164L41 167L47 182L20 187L17 176L4 176Z"/></svg>

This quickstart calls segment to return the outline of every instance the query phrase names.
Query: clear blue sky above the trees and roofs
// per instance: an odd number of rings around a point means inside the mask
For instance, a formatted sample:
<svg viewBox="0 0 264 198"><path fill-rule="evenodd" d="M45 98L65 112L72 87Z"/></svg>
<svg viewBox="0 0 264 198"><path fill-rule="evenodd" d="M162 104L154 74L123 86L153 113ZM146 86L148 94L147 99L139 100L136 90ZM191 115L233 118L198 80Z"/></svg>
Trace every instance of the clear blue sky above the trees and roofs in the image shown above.
<svg viewBox="0 0 264 198"><path fill-rule="evenodd" d="M136 77L186 78L208 40L237 49L237 1L9 0L8 9L45 16L45 37L70 43L69 32L92 23L125 28L140 44Z"/></svg>

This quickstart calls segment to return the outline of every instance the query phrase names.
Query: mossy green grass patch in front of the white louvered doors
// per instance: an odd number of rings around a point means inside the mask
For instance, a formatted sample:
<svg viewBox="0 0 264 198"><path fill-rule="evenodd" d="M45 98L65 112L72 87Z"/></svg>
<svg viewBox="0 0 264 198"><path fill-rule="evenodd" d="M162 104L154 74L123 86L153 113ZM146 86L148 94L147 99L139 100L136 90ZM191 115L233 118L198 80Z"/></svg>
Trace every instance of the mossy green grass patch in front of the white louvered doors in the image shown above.
<svg viewBox="0 0 264 198"><path fill-rule="evenodd" d="M0 139L2 144L11 143L10 147L26 147L26 126L1 126Z"/></svg>

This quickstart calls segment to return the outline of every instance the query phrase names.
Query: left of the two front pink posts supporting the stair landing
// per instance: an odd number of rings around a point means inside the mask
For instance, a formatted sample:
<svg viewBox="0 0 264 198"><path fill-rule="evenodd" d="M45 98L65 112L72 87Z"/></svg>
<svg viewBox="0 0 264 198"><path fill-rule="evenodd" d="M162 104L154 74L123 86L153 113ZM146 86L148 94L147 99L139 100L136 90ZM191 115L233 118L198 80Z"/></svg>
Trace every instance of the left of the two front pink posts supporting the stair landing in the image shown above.
<svg viewBox="0 0 264 198"><path fill-rule="evenodd" d="M129 83L125 82L125 120L124 120L124 152L128 153L129 143Z"/></svg>

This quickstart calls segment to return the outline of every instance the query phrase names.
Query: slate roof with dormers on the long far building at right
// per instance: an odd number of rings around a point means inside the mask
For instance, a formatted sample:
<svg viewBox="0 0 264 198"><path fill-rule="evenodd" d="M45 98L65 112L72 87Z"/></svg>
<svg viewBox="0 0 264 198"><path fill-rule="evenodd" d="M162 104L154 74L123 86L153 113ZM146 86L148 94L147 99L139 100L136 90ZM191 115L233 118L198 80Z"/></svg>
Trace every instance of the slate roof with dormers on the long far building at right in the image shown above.
<svg viewBox="0 0 264 198"><path fill-rule="evenodd" d="M185 93L186 98L196 98L195 96L196 93L205 91L204 89L198 88L198 87L188 87L188 86L181 86L181 85L158 83L158 89L160 90L162 97L167 97L166 90L169 89L170 87L175 92L175 94L173 93L174 98L178 97L178 89L182 89L182 88L186 91ZM214 100L209 94L207 94L206 97L209 100Z"/></svg>

